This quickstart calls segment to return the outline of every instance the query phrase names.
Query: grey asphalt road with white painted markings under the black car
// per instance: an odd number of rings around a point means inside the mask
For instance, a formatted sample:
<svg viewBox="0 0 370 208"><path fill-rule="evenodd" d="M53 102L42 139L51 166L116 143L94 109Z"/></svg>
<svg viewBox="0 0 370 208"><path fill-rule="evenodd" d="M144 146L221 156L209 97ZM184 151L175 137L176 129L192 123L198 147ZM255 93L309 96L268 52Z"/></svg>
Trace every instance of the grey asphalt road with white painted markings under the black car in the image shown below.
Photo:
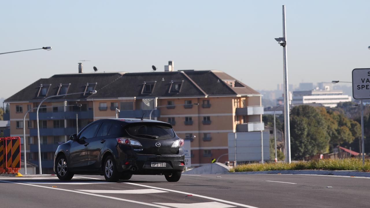
<svg viewBox="0 0 370 208"><path fill-rule="evenodd" d="M370 178L318 175L134 175L108 183L97 175L0 177L0 207L370 207Z"/></svg>

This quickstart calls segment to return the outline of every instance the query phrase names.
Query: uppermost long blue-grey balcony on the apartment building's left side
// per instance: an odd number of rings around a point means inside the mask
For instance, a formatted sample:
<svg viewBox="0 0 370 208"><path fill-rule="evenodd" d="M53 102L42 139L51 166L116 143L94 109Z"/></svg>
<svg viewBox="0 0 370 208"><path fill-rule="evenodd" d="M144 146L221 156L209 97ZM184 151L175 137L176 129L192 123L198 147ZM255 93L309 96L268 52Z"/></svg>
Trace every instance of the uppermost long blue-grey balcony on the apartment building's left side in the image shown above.
<svg viewBox="0 0 370 208"><path fill-rule="evenodd" d="M75 119L76 114L78 119L94 118L92 111L67 111L67 112L38 112L39 120L63 120L63 119ZM36 113L30 113L30 120L36 120Z"/></svg>

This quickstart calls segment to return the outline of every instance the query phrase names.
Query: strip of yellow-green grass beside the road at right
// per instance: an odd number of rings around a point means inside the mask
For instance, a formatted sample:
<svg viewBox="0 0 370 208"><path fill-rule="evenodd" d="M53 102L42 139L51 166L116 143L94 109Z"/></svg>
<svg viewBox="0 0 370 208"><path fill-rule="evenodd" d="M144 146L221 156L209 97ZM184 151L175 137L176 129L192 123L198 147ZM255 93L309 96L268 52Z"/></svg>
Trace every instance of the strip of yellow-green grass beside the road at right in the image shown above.
<svg viewBox="0 0 370 208"><path fill-rule="evenodd" d="M356 170L370 172L370 160L365 160L365 165L361 159L324 159L311 161L298 161L288 163L265 163L265 164L245 164L231 168L229 172L245 171L272 171L272 170Z"/></svg>

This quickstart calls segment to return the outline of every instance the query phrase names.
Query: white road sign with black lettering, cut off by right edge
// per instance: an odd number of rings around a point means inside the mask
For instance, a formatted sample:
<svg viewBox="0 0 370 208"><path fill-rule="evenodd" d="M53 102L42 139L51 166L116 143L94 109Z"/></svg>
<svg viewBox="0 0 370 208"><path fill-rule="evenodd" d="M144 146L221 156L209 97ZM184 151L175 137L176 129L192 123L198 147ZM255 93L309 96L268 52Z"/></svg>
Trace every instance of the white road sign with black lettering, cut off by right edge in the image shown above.
<svg viewBox="0 0 370 208"><path fill-rule="evenodd" d="M370 68L352 70L352 91L354 99L370 99Z"/></svg>

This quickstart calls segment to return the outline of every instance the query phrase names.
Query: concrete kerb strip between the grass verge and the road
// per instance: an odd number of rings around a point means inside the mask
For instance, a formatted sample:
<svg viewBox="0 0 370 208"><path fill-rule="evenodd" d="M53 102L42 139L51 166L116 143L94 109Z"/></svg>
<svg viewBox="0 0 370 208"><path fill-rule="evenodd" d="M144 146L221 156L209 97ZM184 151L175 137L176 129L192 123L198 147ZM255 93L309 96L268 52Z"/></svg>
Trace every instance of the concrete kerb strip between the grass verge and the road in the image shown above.
<svg viewBox="0 0 370 208"><path fill-rule="evenodd" d="M221 174L309 174L309 175L340 175L340 176L370 177L370 172L321 171L321 170L248 171L248 172L226 172Z"/></svg>

